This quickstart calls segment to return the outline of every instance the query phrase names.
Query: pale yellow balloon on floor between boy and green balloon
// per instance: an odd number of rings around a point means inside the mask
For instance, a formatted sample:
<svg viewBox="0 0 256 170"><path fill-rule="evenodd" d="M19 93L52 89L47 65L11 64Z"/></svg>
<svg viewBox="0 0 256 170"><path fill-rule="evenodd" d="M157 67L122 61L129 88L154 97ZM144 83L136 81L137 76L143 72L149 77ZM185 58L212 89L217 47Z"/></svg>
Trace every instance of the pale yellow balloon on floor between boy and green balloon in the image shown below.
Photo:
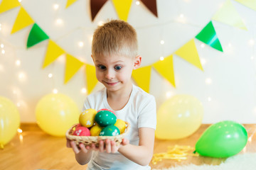
<svg viewBox="0 0 256 170"><path fill-rule="evenodd" d="M203 106L193 96L176 95L160 106L156 118L157 138L180 139L198 130L203 119Z"/></svg>

